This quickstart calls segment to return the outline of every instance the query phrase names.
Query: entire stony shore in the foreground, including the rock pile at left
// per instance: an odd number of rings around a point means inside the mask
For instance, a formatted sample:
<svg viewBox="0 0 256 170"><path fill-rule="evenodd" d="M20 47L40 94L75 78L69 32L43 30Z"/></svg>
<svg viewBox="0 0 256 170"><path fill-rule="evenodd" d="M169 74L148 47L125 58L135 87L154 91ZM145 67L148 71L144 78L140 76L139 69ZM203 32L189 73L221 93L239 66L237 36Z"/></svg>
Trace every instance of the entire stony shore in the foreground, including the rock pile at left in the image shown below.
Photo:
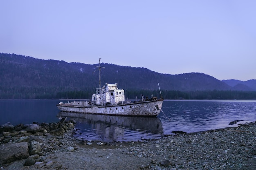
<svg viewBox="0 0 256 170"><path fill-rule="evenodd" d="M255 170L256 122L141 142L74 139L75 122L1 126L4 170ZM237 122L239 124L239 122ZM4 127L4 128L3 128ZM19 127L19 128L18 128Z"/></svg>

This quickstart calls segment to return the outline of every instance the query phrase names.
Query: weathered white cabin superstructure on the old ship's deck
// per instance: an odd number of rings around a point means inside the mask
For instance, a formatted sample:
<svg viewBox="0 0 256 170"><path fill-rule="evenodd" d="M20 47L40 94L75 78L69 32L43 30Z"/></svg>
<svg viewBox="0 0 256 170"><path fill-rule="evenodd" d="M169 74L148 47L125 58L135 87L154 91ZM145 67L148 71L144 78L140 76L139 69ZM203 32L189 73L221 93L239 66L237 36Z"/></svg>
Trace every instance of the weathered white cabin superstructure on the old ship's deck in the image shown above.
<svg viewBox="0 0 256 170"><path fill-rule="evenodd" d="M102 88L96 88L96 94L92 95L92 101L101 106L122 104L125 101L124 90L118 89L117 83L106 83Z"/></svg>

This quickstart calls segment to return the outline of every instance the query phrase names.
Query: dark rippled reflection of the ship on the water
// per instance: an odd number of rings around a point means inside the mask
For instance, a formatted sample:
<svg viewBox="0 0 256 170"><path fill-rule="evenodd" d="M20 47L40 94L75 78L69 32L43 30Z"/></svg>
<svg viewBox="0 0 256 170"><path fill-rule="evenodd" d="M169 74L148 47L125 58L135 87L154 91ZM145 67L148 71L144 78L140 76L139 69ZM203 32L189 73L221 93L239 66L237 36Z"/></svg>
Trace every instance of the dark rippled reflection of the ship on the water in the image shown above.
<svg viewBox="0 0 256 170"><path fill-rule="evenodd" d="M101 141L139 141L164 135L158 117L128 117L59 112L57 117L74 119L80 136Z"/></svg>

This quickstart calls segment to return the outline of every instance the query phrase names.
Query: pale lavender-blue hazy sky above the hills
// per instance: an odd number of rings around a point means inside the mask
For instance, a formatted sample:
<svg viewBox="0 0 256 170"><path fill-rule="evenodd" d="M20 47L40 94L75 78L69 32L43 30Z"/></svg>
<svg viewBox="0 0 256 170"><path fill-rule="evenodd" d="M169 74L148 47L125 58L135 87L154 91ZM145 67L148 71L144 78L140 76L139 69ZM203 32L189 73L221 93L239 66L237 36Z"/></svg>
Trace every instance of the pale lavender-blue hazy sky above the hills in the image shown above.
<svg viewBox="0 0 256 170"><path fill-rule="evenodd" d="M256 0L1 0L0 52L256 79Z"/></svg>

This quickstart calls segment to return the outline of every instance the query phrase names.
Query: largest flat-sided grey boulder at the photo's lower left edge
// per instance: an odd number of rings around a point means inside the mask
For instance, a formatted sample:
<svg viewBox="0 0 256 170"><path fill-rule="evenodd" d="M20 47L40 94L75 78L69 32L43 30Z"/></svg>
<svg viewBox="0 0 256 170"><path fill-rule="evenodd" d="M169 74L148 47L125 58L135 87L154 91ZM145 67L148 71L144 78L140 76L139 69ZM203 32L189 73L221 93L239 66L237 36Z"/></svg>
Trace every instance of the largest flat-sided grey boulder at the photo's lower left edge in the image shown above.
<svg viewBox="0 0 256 170"><path fill-rule="evenodd" d="M20 142L0 145L0 163L5 164L29 157L29 144Z"/></svg>

